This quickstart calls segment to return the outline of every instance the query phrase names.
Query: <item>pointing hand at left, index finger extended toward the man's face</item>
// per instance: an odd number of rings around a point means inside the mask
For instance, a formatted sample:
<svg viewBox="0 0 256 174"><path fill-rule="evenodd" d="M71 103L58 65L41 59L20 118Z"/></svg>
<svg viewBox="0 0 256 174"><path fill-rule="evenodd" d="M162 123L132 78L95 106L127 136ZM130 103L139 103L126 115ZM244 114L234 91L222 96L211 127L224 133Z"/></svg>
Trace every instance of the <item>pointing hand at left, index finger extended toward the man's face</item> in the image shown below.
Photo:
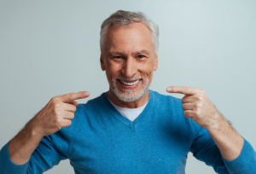
<svg viewBox="0 0 256 174"><path fill-rule="evenodd" d="M37 136L44 137L72 124L78 102L74 100L90 96L89 92L70 93L53 97L28 123Z"/></svg>

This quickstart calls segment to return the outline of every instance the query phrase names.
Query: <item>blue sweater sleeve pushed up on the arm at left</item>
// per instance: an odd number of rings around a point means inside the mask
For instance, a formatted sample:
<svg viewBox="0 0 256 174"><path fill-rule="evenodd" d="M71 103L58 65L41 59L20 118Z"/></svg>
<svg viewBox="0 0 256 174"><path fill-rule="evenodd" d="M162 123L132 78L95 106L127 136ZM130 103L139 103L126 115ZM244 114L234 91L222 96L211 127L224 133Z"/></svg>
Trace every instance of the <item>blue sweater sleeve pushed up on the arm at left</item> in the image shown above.
<svg viewBox="0 0 256 174"><path fill-rule="evenodd" d="M49 136L44 136L38 148L34 150L31 158L24 165L16 165L11 161L8 142L0 151L0 174L43 173L54 165L58 165L62 159L68 159L70 147L73 147L73 139L76 137L75 132L81 124L81 121L77 121L80 110L82 109L79 105L72 125L63 127Z"/></svg>

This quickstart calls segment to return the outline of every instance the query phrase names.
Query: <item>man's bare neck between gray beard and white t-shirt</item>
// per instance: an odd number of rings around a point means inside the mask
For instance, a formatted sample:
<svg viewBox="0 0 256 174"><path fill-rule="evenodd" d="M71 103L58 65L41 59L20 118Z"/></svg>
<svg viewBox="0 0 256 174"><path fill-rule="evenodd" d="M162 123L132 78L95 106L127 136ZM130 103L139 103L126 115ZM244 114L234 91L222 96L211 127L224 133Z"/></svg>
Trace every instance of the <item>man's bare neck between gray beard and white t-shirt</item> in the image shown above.
<svg viewBox="0 0 256 174"><path fill-rule="evenodd" d="M125 107L125 108L137 108L137 107L143 107L148 100L149 100L149 91L144 94L139 100L135 102L124 102L119 99L118 96L116 96L113 91L110 89L108 90L108 99L113 102L113 104L119 106L119 107Z"/></svg>

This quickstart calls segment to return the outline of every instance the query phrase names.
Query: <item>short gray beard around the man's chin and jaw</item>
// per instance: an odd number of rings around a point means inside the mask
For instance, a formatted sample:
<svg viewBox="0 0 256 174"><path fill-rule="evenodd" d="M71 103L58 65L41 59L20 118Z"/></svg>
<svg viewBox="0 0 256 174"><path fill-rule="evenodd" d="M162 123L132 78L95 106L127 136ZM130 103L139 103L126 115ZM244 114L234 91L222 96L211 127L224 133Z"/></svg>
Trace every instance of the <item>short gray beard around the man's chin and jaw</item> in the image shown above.
<svg viewBox="0 0 256 174"><path fill-rule="evenodd" d="M123 102L135 102L139 100L147 93L150 85L149 80L147 79L145 82L143 82L143 90L141 90L137 95L132 95L132 92L135 90L122 90L122 92L120 92L116 87L116 78L113 78L112 82L113 85L111 86L111 90L113 90L113 93L119 97L119 100Z"/></svg>

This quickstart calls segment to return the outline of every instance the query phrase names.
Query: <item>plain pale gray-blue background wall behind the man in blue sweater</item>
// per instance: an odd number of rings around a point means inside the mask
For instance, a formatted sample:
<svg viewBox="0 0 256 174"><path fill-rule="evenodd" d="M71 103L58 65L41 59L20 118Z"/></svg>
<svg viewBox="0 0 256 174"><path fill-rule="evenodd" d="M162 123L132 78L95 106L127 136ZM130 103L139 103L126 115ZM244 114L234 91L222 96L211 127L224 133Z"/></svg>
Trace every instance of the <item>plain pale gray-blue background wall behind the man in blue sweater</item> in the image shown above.
<svg viewBox="0 0 256 174"><path fill-rule="evenodd" d="M159 69L150 89L205 90L253 148L256 1L0 0L0 148L49 99L108 90L100 67L100 26L118 9L143 11L160 27ZM173 95L182 97L182 95ZM46 173L73 173L68 160ZM186 173L215 173L189 154Z"/></svg>

